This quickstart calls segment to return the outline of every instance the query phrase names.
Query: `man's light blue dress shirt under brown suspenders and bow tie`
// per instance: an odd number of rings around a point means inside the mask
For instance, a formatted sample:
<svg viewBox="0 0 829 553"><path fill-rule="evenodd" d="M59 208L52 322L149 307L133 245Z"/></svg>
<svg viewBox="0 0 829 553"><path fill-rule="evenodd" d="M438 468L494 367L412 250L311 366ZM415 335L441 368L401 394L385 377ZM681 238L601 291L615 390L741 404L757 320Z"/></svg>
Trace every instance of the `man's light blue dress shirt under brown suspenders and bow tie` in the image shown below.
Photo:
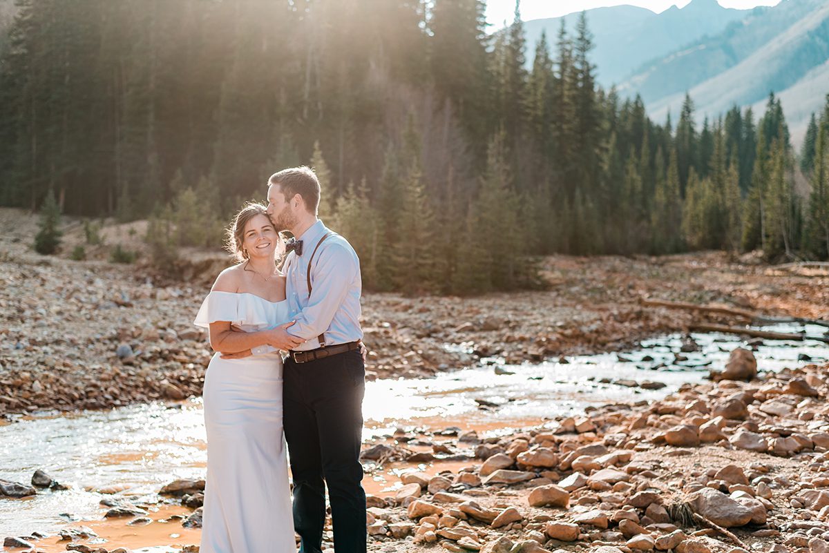
<svg viewBox="0 0 829 553"><path fill-rule="evenodd" d="M303 241L303 254L288 253L285 262L287 283L285 296L291 320L288 333L307 340L294 351L317 349L319 334L325 334L325 345L347 344L361 339L360 294L362 280L360 259L354 248L339 234L332 234L313 256L311 264L311 296L308 297L308 259L325 233L331 232L322 221L308 228L298 240Z"/></svg>

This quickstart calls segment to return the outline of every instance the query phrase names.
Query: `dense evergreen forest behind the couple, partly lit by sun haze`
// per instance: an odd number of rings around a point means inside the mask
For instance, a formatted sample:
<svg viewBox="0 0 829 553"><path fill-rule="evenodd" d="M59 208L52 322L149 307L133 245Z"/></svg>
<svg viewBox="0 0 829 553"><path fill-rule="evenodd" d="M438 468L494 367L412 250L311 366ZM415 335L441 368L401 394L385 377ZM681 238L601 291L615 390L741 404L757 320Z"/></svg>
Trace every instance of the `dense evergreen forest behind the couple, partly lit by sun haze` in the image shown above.
<svg viewBox="0 0 829 553"><path fill-rule="evenodd" d="M797 151L773 91L652 121L597 84L584 13L528 47L481 0L16 4L4 206L150 219L169 256L306 164L366 287L409 293L534 286L553 252L829 258L829 94Z"/></svg>

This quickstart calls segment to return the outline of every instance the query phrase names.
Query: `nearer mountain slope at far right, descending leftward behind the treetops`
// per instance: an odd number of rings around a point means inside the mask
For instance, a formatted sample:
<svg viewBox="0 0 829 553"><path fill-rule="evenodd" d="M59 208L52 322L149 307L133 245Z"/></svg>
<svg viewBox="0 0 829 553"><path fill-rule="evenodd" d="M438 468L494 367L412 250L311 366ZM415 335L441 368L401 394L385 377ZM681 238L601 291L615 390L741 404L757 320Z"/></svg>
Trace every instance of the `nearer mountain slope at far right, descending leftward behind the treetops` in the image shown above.
<svg viewBox="0 0 829 553"><path fill-rule="evenodd" d="M734 105L763 113L769 92L778 95L796 144L808 118L829 93L829 3L783 0L753 11L719 35L643 65L619 85L642 95L657 120L679 113L686 91L698 118L715 118Z"/></svg>

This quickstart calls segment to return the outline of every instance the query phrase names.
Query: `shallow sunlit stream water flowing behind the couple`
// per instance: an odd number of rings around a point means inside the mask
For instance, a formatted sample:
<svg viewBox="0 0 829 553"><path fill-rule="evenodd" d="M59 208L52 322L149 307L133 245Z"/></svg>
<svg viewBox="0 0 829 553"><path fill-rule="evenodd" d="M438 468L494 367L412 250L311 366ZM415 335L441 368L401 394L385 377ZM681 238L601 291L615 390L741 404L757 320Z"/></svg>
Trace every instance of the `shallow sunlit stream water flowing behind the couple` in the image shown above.
<svg viewBox="0 0 829 553"><path fill-rule="evenodd" d="M764 329L805 331L807 335L826 332L813 325ZM674 355L680 351L681 336L671 335L643 341L641 349L622 356L605 353L568 358L567 363L521 365L504 365L493 358L475 368L429 379L367 382L364 438L385 440L398 428L441 430L448 426L492 435L537 426L590 405L653 400L676 391L684 382L701 381L709 368L722 368L731 349L744 345L725 334L693 337L701 349L684 353L687 360L680 363L675 363ZM827 344L815 340L765 340L754 353L760 370L802 366L807 363L798 361L803 353L816 361L829 358ZM617 380L656 381L666 387L646 390L610 382ZM481 407L476 400L494 406ZM0 498L0 538L32 531L50 533L71 521L99 520L104 512L99 501L109 497L104 492L119 491L158 502L155 493L164 483L173 478L204 478L205 465L201 398L21 417L0 426L0 478L28 483L36 469L45 469L72 488L28 499ZM435 472L444 468L434 465ZM366 476L371 493L388 491L393 485L383 474ZM170 508L160 505L159 512L169 514ZM118 524L123 527L124 521ZM180 524L169 526L167 542L168 536L182 533Z"/></svg>

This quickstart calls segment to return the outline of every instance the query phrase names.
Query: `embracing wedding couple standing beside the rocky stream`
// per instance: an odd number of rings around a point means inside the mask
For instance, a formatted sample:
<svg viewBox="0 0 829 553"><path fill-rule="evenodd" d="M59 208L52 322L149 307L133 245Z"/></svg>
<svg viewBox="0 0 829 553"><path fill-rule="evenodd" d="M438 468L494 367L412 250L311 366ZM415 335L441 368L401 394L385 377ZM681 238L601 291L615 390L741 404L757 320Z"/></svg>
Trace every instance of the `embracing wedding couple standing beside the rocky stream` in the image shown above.
<svg viewBox="0 0 829 553"><path fill-rule="evenodd" d="M216 350L203 393L202 553L293 553L294 531L301 553L320 553L326 486L335 551L366 551L360 262L317 218L319 196L308 167L271 176L267 209L248 204L228 231L239 263L196 315Z"/></svg>

